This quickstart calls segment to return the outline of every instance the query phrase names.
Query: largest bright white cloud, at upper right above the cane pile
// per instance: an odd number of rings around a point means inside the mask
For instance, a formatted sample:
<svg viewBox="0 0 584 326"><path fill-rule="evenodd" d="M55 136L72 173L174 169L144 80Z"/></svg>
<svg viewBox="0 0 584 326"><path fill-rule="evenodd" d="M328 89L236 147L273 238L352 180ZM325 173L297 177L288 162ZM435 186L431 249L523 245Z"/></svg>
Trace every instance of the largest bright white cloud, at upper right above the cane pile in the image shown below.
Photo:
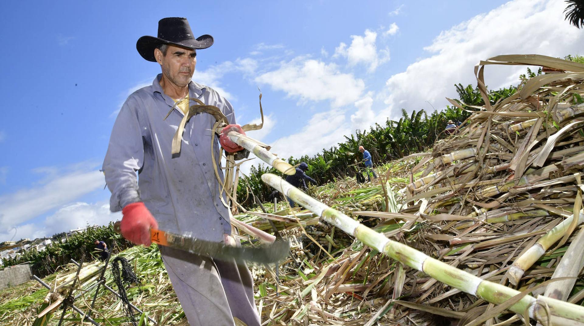
<svg viewBox="0 0 584 326"><path fill-rule="evenodd" d="M584 33L565 22L564 9L561 1L515 0L443 31L425 48L431 56L387 80L387 109L378 116L399 115L402 107L429 108L426 101L442 109L448 104L445 96L457 96L454 84L476 85L473 68L479 60L499 54L564 57L580 53ZM517 84L525 68L489 65L485 82L491 89Z"/></svg>

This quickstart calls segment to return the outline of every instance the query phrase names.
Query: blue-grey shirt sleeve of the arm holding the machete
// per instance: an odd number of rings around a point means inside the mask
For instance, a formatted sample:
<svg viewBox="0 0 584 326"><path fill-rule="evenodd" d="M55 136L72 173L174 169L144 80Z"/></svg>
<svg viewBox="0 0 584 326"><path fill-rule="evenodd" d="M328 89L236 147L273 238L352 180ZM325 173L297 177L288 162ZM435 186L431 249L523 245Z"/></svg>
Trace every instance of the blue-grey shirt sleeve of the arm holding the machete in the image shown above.
<svg viewBox="0 0 584 326"><path fill-rule="evenodd" d="M141 201L136 172L144 163L144 143L137 106L137 101L130 96L121 107L103 160L107 188L112 192L111 211Z"/></svg>

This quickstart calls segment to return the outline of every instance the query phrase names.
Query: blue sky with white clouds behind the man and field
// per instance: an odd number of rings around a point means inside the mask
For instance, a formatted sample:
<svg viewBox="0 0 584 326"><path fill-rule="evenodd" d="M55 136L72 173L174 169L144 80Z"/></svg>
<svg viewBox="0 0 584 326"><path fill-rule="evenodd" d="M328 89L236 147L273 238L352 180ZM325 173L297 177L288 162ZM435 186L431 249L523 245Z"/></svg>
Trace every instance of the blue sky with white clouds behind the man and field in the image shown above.
<svg viewBox="0 0 584 326"><path fill-rule="evenodd" d="M139 5L138 5L139 4ZM166 5L166 6L164 6ZM442 109L498 54L582 54L564 1L5 2L0 81L0 241L120 219L98 172L116 112L159 65L135 50L158 20L211 34L193 79L224 94L249 136L314 155L406 110ZM524 68L488 67L498 88Z"/></svg>

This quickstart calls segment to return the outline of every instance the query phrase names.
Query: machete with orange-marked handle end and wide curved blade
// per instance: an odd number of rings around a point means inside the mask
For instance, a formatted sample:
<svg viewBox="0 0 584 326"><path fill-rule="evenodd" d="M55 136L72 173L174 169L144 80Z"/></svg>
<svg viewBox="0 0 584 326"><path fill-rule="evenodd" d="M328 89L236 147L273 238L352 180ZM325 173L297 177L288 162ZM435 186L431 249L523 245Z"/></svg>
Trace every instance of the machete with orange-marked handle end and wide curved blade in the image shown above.
<svg viewBox="0 0 584 326"><path fill-rule="evenodd" d="M121 234L120 221L114 223L114 230ZM284 240L277 240L271 245L263 245L262 247L233 247L223 242L201 240L190 236L190 234L180 235L155 228L150 229L150 239L158 245L220 260L235 259L272 263L282 260L290 251L290 244Z"/></svg>

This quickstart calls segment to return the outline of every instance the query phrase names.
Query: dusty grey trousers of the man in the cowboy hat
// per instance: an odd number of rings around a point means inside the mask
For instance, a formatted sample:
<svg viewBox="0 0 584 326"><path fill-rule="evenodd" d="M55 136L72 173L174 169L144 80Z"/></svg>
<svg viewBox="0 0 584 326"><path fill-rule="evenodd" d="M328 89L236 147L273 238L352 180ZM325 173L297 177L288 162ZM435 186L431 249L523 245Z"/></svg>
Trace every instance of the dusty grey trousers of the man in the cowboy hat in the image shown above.
<svg viewBox="0 0 584 326"><path fill-rule="evenodd" d="M253 279L244 262L213 260L159 246L172 287L190 326L232 326L233 316L259 326Z"/></svg>

